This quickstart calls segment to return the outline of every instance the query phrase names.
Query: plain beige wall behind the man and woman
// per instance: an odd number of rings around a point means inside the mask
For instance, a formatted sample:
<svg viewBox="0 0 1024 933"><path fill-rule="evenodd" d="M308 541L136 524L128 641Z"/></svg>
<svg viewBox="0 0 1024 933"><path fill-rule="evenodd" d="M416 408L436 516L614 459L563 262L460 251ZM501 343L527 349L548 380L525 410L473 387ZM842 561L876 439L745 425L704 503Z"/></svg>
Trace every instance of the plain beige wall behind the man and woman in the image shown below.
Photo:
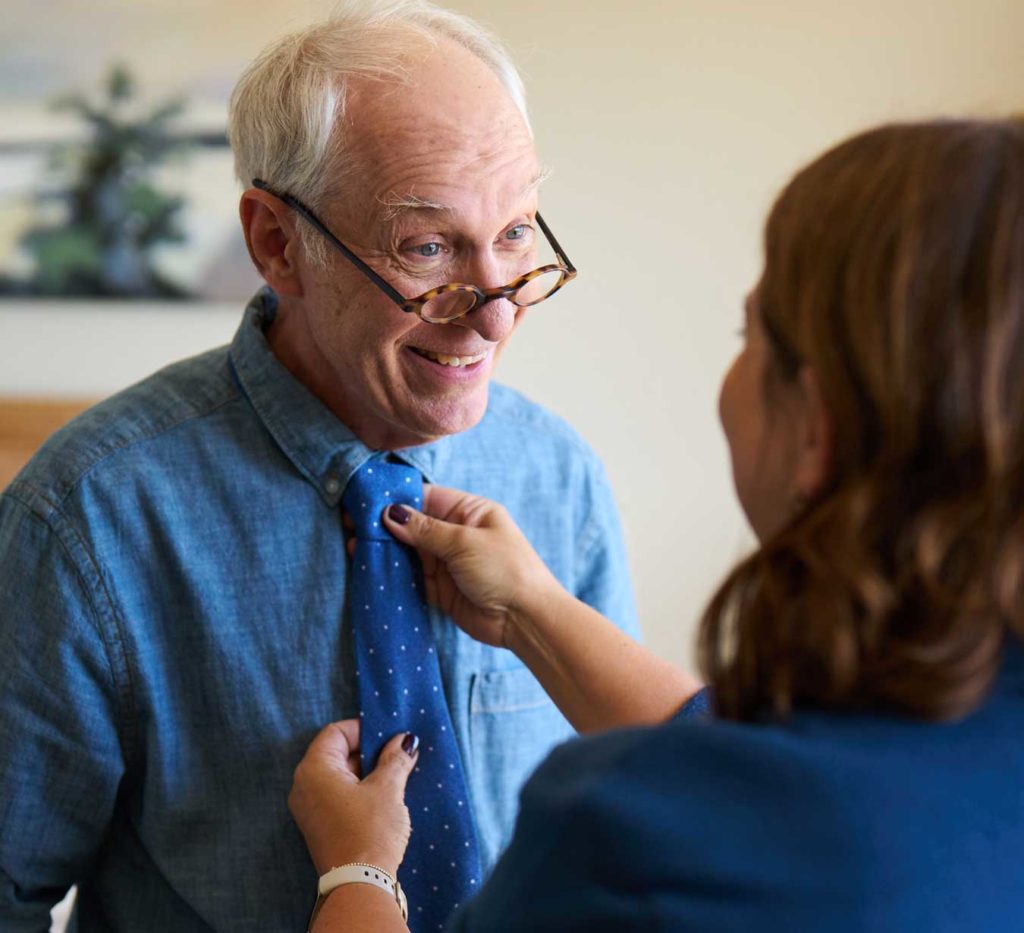
<svg viewBox="0 0 1024 933"><path fill-rule="evenodd" d="M1024 3L451 5L490 24L522 66L542 157L555 170L544 212L581 269L527 322L502 376L565 415L604 458L649 641L685 662L702 603L750 544L715 406L773 193L801 162L866 124L1024 109ZM326 4L283 7L226 3L211 35L252 54ZM221 339L231 320L197 319L183 334L176 322L172 351ZM39 338L19 322L16 355L41 356L26 349ZM4 329L15 333L9 317L0 317ZM97 391L114 387L103 379L155 365L124 327L104 333L84 359L79 351L56 366L49 355L47 378L98 363L78 380ZM41 366L26 367L5 343L0 391L11 387L5 368L24 373L16 382Z"/></svg>

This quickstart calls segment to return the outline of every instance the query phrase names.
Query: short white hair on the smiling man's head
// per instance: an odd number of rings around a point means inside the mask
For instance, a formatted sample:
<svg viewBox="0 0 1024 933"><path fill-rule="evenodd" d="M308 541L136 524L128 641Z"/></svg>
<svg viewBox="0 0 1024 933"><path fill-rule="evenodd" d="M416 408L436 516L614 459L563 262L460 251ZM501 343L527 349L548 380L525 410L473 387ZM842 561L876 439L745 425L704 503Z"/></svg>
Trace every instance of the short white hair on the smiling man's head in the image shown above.
<svg viewBox="0 0 1024 933"><path fill-rule="evenodd" d="M424 40L442 39L498 76L528 129L522 79L501 42L475 22L428 0L350 0L326 20L264 49L236 85L227 135L243 186L260 178L323 208L341 193L351 168L344 133L349 82L407 80L410 56ZM311 231L305 224L300 230L306 238Z"/></svg>

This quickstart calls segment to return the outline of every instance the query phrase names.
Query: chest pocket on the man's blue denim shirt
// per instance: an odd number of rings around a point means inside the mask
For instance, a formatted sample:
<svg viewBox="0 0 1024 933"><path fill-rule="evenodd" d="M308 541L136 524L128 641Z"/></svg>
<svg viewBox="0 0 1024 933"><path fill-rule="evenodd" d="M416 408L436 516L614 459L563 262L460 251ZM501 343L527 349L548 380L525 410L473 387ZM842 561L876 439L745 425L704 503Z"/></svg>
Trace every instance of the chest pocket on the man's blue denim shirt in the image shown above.
<svg viewBox="0 0 1024 933"><path fill-rule="evenodd" d="M526 778L575 733L525 668L475 675L469 713L470 791L486 872L512 835Z"/></svg>

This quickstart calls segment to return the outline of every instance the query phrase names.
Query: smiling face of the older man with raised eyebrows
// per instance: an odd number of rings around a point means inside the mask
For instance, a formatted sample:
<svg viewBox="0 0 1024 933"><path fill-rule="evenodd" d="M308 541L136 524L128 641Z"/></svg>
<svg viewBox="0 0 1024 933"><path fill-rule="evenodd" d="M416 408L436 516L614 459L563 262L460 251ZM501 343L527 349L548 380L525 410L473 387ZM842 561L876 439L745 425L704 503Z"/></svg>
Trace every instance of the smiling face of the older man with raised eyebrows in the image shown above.
<svg viewBox="0 0 1024 933"><path fill-rule="evenodd" d="M495 288L536 266L532 140L475 56L440 43L408 85L356 83L346 125L355 173L324 219L407 298L450 282ZM333 250L304 278L315 390L365 443L412 447L480 420L521 310L500 299L425 324Z"/></svg>

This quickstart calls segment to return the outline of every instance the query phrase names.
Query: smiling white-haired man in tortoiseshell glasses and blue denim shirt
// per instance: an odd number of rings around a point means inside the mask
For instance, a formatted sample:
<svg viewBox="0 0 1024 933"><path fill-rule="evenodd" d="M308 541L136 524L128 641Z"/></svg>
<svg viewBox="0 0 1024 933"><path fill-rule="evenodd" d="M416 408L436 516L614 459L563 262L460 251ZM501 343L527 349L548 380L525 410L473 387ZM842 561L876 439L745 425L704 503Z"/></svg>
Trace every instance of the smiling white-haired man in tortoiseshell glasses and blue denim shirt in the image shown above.
<svg viewBox="0 0 1024 933"><path fill-rule="evenodd" d="M423 2L339 12L250 68L230 137L268 288L229 347L86 413L0 500L4 931L42 929L73 884L80 931L302 928L292 771L371 695L359 626L411 608L356 623L342 512L361 494L343 498L375 467L504 502L566 587L635 627L599 463L490 383L523 308L573 274L500 47ZM568 726L511 653L424 618L439 693L419 664L395 692L442 697L436 801L467 798L486 871Z"/></svg>

